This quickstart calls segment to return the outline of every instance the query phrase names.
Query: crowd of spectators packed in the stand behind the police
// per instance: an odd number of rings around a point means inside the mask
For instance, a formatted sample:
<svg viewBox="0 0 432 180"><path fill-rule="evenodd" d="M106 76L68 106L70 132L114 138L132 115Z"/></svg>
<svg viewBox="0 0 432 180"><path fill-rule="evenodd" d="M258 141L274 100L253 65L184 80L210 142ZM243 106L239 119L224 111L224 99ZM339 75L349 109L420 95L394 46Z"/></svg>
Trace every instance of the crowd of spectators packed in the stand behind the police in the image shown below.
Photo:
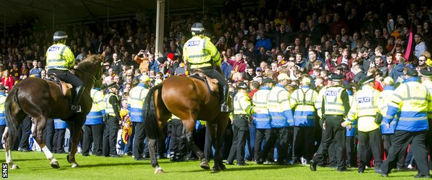
<svg viewBox="0 0 432 180"><path fill-rule="evenodd" d="M226 0L222 10L170 17L165 22L169 26L163 56L157 58L152 19L131 17L109 26L107 22L60 25L57 30L68 33L67 44L77 64L89 53L105 52L102 83L116 82L123 100L143 74L152 78L152 84L186 75L183 46L197 21L221 53L222 71L231 87L237 82L261 84L265 78L276 80L279 73L287 73L291 92L302 77L310 77L319 91L327 76L336 73L344 75L344 84L353 89L359 88L357 82L364 76L375 75L375 89L382 91L386 77L395 84L403 81L406 66L417 71L431 68L431 5L424 0L292 0L259 1L242 8L240 1ZM27 21L1 37L1 82L8 89L27 77L46 78L44 54L53 31L41 27L38 21Z"/></svg>

